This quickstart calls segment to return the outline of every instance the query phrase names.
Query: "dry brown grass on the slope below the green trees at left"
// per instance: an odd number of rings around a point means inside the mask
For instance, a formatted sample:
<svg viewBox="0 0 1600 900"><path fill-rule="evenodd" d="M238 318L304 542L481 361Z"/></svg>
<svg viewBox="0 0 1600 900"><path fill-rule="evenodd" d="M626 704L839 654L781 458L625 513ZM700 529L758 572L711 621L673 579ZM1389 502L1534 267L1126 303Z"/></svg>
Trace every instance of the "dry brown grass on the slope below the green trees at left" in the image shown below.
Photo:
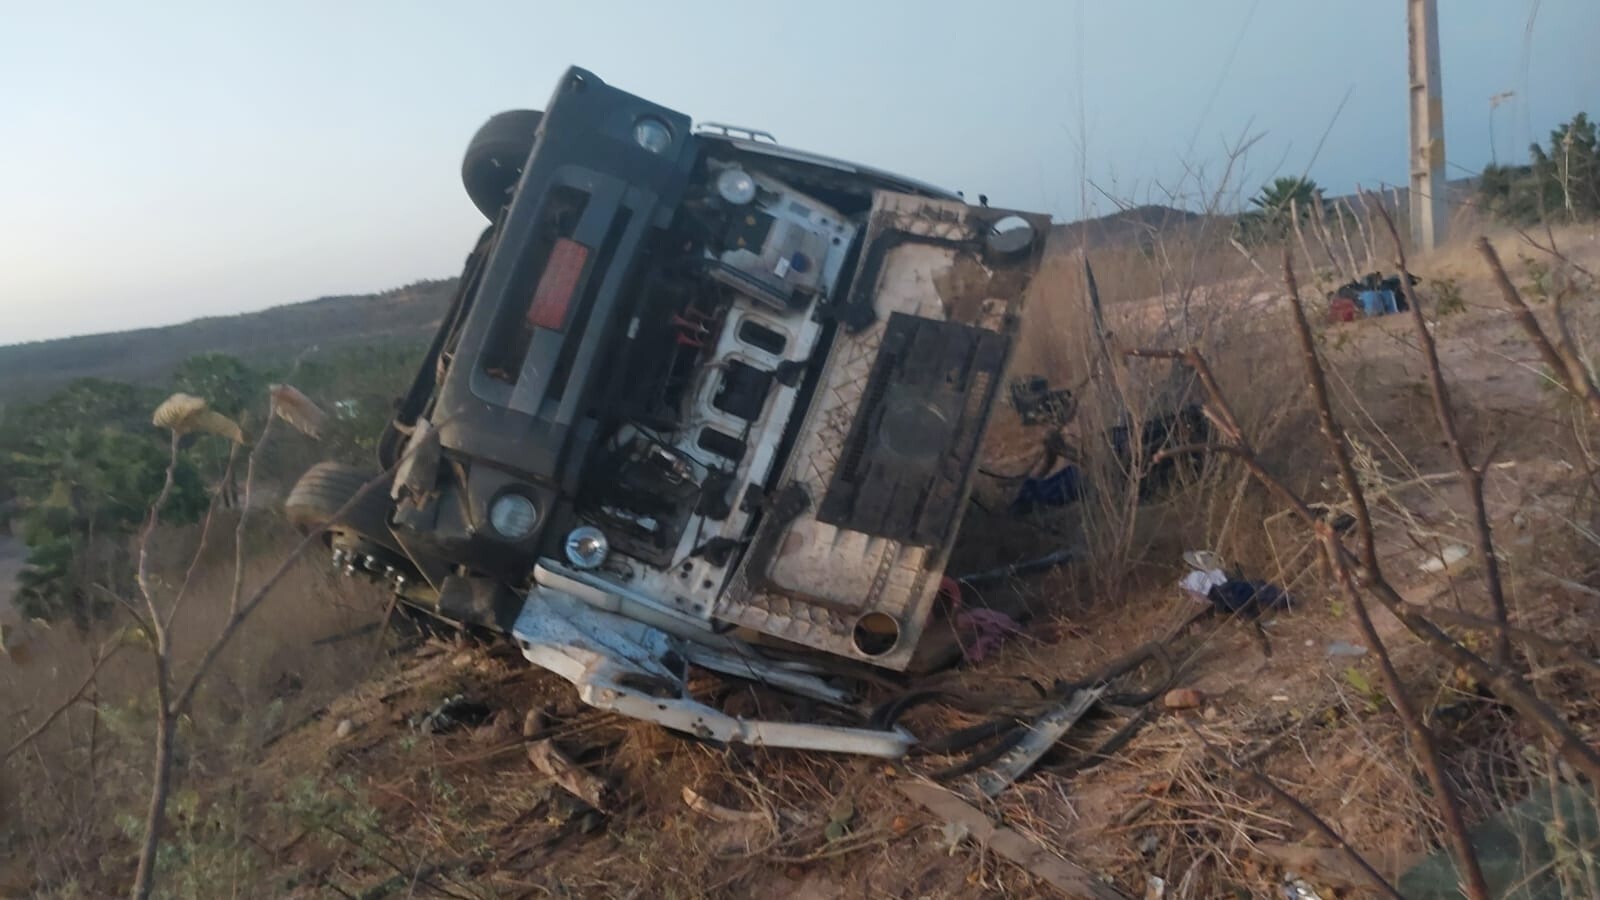
<svg viewBox="0 0 1600 900"><path fill-rule="evenodd" d="M195 528L163 528L158 578L181 580L197 540ZM293 535L269 522L253 528L250 540L258 549L246 562L246 586L275 569ZM230 551L213 546L197 573L194 601L174 634L179 666L192 665L226 621ZM218 665L182 722L182 770L190 783L203 785L254 757L274 733L366 677L381 660L373 637L334 649L312 645L374 620L384 602L376 591L336 580L322 559L299 564L280 591L262 607L250 639ZM32 626L26 660L0 660L0 697L19 711L0 724L0 743L11 746L32 721L59 706L88 673L90 647L117 626L107 623L86 636L70 626ZM0 833L18 860L38 863L35 889L66 886L70 894L86 876L107 876L107 886L115 886L128 874L122 866L131 863L131 842L123 818L147 796L154 673L144 650L125 644L83 701L0 772Z"/></svg>

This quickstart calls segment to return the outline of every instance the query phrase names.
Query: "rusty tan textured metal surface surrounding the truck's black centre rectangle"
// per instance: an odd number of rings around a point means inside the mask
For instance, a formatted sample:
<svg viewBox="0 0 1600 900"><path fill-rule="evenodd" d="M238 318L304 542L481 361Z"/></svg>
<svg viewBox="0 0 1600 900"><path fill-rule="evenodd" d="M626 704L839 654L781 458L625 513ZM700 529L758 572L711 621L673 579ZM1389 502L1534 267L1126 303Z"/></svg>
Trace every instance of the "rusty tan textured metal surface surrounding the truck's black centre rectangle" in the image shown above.
<svg viewBox="0 0 1600 900"><path fill-rule="evenodd" d="M878 194L853 287L837 301L843 327L829 349L771 508L717 604L717 618L885 668L910 663L960 528L976 453L950 456L952 469L941 476L942 512L925 519L920 530L902 522L894 528L880 524L875 530L882 533L872 533L856 527L861 522L829 516L822 506L851 447L858 413L872 407L867 391L891 323L902 317L960 323L987 335L974 346L982 348L982 368L995 375L978 386L982 400L963 408L966 424L960 429L973 448L981 444L1050 224L1046 216L1024 216L1037 234L1032 245L994 253L994 223L1008 215ZM944 338L965 333L962 328L936 327L930 335ZM994 360L994 354L1000 359ZM896 381L890 380L885 391ZM973 384L968 388L963 400L974 396ZM858 495L864 487L856 479Z"/></svg>

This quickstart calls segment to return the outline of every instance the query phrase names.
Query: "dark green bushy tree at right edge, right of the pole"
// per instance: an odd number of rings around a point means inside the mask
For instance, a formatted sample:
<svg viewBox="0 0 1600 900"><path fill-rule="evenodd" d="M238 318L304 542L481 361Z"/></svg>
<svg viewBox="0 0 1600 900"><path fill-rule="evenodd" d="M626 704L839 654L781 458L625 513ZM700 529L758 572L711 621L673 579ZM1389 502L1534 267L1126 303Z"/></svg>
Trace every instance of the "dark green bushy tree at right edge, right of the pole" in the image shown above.
<svg viewBox="0 0 1600 900"><path fill-rule="evenodd" d="M1478 195L1512 224L1600 218L1600 136L1587 114L1550 131L1547 147L1528 147L1530 165L1490 165Z"/></svg>

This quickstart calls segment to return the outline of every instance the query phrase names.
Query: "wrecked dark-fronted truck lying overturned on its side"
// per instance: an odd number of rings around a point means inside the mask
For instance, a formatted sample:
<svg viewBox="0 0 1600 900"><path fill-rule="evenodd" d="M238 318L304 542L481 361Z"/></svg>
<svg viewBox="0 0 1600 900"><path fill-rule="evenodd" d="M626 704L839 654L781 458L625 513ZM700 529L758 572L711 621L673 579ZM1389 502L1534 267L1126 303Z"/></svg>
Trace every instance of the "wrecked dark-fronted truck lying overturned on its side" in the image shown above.
<svg viewBox="0 0 1600 900"><path fill-rule="evenodd" d="M286 506L336 565L507 634L594 706L710 740L690 666L824 703L917 661L1048 218L570 69L462 163L490 219L379 442Z"/></svg>

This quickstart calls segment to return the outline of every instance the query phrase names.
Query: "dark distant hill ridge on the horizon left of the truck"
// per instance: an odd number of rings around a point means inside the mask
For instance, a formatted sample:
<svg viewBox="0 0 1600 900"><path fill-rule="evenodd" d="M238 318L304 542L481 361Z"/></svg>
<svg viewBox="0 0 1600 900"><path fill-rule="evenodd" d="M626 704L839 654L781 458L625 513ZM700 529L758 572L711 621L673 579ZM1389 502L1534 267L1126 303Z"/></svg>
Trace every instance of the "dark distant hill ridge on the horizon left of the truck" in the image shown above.
<svg viewBox="0 0 1600 900"><path fill-rule="evenodd" d="M325 296L182 325L0 346L0 400L85 376L160 381L198 352L267 360L309 346L421 341L434 333L454 287L454 279L418 282L382 293Z"/></svg>

